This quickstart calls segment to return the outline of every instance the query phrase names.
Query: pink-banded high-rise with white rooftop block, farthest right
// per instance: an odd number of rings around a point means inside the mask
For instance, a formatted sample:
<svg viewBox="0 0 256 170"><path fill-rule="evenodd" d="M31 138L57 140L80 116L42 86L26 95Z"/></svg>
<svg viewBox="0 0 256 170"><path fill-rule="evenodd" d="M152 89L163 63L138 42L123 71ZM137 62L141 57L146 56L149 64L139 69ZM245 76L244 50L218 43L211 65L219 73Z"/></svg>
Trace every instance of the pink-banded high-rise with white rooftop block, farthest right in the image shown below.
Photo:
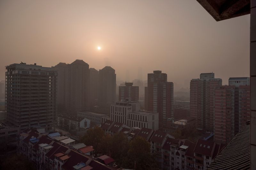
<svg viewBox="0 0 256 170"><path fill-rule="evenodd" d="M228 86L215 89L216 142L229 143L251 117L249 77L229 78Z"/></svg>

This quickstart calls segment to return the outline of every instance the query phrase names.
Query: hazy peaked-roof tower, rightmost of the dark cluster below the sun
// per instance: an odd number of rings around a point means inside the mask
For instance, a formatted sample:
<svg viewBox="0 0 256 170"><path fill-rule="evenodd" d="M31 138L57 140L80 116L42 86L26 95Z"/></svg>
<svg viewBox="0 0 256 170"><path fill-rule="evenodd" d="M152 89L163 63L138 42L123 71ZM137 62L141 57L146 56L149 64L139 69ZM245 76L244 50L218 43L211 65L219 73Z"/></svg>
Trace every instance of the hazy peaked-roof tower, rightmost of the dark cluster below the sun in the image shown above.
<svg viewBox="0 0 256 170"><path fill-rule="evenodd" d="M106 66L99 70L99 104L109 109L110 104L116 101L116 74L115 70ZM108 110L109 111L109 110Z"/></svg>

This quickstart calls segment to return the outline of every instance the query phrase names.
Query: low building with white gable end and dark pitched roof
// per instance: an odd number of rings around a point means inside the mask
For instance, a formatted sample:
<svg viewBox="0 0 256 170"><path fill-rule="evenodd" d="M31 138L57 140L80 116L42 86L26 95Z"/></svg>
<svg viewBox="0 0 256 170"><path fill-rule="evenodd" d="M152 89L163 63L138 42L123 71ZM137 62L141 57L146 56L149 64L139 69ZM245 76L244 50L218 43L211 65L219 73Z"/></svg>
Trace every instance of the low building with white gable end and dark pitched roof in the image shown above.
<svg viewBox="0 0 256 170"><path fill-rule="evenodd" d="M57 116L57 125L67 130L76 130L79 128L89 128L90 120L84 117L60 114Z"/></svg>

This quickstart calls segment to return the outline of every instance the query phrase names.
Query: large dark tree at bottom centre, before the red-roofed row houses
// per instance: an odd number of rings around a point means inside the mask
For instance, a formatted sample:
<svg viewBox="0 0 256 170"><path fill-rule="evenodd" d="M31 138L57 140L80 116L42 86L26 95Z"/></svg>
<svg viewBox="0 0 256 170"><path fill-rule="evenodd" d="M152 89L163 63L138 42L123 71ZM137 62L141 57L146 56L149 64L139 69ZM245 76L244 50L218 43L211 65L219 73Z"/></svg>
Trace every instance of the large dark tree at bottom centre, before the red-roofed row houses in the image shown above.
<svg viewBox="0 0 256 170"><path fill-rule="evenodd" d="M136 170L157 169L154 155L150 152L150 143L140 136L129 143L127 157L124 158L121 166L134 169L135 161Z"/></svg>

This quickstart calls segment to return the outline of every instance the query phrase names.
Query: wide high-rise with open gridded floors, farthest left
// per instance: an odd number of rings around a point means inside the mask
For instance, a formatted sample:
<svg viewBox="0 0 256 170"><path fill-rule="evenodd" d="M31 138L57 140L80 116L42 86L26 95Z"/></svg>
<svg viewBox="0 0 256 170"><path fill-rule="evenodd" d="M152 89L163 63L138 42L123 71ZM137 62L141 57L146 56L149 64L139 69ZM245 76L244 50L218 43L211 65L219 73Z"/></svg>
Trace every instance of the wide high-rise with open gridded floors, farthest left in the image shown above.
<svg viewBox="0 0 256 170"><path fill-rule="evenodd" d="M57 72L26 63L6 66L7 120L21 130L36 126L53 130L56 114Z"/></svg>

